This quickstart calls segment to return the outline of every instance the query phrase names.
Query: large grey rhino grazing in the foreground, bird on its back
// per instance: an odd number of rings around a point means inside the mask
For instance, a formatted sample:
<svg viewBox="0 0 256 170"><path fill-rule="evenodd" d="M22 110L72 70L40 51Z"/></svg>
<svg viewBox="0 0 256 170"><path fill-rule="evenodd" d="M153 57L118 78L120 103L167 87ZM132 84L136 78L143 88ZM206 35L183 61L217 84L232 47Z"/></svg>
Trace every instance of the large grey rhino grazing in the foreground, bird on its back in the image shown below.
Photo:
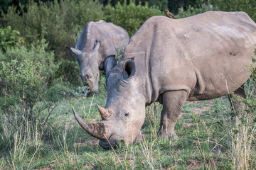
<svg viewBox="0 0 256 170"><path fill-rule="evenodd" d="M145 108L163 104L159 135L175 136L186 101L218 98L250 77L256 24L244 12L209 11L182 19L149 18L131 38L107 77L102 121L78 123L107 149L140 140ZM253 65L255 68L255 64Z"/></svg>

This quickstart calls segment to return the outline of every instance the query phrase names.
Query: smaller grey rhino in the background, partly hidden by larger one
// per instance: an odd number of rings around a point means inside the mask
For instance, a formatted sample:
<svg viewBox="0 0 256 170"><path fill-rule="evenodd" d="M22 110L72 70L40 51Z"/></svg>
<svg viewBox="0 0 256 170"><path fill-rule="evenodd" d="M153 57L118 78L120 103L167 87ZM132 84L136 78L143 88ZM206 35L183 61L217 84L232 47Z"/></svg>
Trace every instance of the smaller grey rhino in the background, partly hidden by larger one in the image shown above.
<svg viewBox="0 0 256 170"><path fill-rule="evenodd" d="M106 23L105 21L89 22L78 37L73 47L67 47L77 56L80 66L82 83L89 86L89 94L98 94L100 70L108 64L114 64L114 58L122 54L122 50L129 42L129 34L124 28ZM107 57L110 57L106 61Z"/></svg>

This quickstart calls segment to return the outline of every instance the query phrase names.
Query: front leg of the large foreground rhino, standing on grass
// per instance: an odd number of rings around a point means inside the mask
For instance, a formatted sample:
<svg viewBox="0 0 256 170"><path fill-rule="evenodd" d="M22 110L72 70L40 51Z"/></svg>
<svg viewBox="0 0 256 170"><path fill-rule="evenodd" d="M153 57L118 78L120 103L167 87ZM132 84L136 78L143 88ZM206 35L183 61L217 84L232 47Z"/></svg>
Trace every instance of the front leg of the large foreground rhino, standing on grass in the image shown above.
<svg viewBox="0 0 256 170"><path fill-rule="evenodd" d="M186 91L166 91L164 92L161 103L161 121L158 135L164 138L178 137L174 132L174 126L187 100Z"/></svg>

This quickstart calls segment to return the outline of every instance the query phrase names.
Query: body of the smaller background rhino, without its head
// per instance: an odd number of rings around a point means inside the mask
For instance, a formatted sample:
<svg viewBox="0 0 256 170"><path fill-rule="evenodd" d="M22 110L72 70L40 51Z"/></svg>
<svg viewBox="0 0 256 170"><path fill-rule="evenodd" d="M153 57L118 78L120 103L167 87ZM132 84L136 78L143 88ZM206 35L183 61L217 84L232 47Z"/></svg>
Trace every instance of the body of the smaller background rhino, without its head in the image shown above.
<svg viewBox="0 0 256 170"><path fill-rule="evenodd" d="M114 55L118 49L125 47L129 42L129 34L124 28L106 23L105 21L87 23L78 37L75 48L90 51L95 41L100 41L100 54L104 57Z"/></svg>

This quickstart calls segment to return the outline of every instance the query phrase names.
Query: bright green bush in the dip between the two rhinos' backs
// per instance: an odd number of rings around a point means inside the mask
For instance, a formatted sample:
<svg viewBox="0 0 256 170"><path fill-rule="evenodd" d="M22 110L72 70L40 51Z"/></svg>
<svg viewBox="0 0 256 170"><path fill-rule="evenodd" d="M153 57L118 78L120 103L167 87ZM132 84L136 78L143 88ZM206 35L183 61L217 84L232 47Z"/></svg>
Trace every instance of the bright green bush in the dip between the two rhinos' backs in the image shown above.
<svg viewBox="0 0 256 170"><path fill-rule="evenodd" d="M140 26L151 16L162 16L164 13L159 11L155 6L149 8L147 4L136 6L134 1L129 5L118 3L117 6L105 6L105 21L121 26L130 36L132 36Z"/></svg>

